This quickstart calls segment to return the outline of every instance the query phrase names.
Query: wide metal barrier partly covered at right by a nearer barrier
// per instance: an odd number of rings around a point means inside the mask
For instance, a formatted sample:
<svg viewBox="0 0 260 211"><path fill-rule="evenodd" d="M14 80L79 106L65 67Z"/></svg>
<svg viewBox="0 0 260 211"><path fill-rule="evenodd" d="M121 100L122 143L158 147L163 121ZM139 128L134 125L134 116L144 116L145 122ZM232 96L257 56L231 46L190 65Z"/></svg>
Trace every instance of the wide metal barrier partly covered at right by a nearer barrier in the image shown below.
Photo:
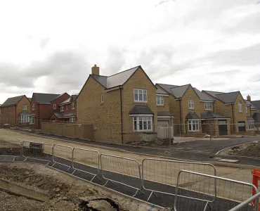
<svg viewBox="0 0 260 211"><path fill-rule="evenodd" d="M180 170L191 170L193 172L201 172L216 176L216 168L209 163L145 158L142 162L142 186L146 191L151 191L147 200L150 200L152 195L156 196L155 193L164 193L175 196L175 186ZM161 191L161 187L159 187L160 189L156 189L157 186L148 188L146 184L150 186L150 181L164 184L164 189L167 191ZM172 186L174 186L174 188Z"/></svg>

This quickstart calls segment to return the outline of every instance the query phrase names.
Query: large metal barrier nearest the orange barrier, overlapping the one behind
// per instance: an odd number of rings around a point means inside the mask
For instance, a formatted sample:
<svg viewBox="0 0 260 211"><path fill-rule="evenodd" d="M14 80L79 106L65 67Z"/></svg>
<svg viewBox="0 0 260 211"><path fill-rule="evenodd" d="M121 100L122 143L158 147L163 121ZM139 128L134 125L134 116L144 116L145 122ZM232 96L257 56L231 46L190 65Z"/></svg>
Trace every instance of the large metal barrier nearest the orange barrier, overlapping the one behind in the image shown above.
<svg viewBox="0 0 260 211"><path fill-rule="evenodd" d="M253 184L181 170L178 173L174 210L230 210L252 195ZM248 205L243 210L252 210Z"/></svg>

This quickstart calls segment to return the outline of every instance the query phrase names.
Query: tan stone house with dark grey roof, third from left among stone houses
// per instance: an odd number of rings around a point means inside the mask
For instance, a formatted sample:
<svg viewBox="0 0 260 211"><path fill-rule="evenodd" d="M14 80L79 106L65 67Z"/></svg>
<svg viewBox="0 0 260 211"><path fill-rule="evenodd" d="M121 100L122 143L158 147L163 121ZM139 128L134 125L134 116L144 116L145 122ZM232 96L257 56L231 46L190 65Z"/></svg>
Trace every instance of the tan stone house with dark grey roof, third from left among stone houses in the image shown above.
<svg viewBox="0 0 260 211"><path fill-rule="evenodd" d="M240 91L228 93L217 91L202 91L216 100L216 112L230 117L231 133L250 134L254 128L254 119L250 115L250 105L243 99Z"/></svg>

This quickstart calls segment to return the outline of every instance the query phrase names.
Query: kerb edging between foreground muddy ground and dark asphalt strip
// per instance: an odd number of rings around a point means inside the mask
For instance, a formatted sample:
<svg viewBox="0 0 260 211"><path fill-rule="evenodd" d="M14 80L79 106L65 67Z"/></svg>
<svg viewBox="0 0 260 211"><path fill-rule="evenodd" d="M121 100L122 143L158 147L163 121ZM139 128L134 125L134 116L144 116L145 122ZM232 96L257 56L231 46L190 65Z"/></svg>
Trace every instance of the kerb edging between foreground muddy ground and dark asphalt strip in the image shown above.
<svg viewBox="0 0 260 211"><path fill-rule="evenodd" d="M4 163L4 162L22 162L22 163L23 163L23 161L0 160L0 163ZM150 207L148 207L148 209L150 209L150 210L153 210L153 208L156 208L156 209L158 209L158 210L163 210L163 209L164 209L164 207L161 207L161 206L158 206L158 205L155 205L155 204L152 204L152 203L148 203L148 202L145 201L145 200L140 200L140 199L134 198L134 197L132 197L132 196L128 196L128 195L126 195L126 194L124 194L124 193L120 193L120 192L115 191L115 190L113 190L113 189L111 189L111 188L102 186L102 185L100 185L100 184L93 183L93 181L88 181L88 180L86 180L86 179L82 179L82 178L80 178L80 177L74 176L74 175L72 175L72 174L70 174L70 173L63 172L62 170L58 170L58 169L56 169L56 168L54 168L54 167L46 166L46 165L43 165L43 164L41 164L41 163L35 163L35 162L27 162L27 163L30 163L30 164L32 164L32 165L42 165L42 166L44 166L44 167L49 167L49 168L51 168L52 170L56 170L56 171L61 172L61 173L63 173L63 174L67 174L67 175L70 176L70 177L74 177L74 178L77 178L77 179L79 179L79 180L82 180L82 181L84 181L84 182L86 182L86 183L89 183L89 184L91 184L91 185L94 186L94 187L97 186L97 187L99 187L99 188L105 189L106 191L108 191L108 192L110 192L110 193L112 193L112 194L117 194L117 195L122 196L122 197L124 197L124 198L129 198L130 200L136 200L136 201L138 201L139 203L143 203L143 204L145 204L145 205L150 206ZM94 189L94 188L93 188L93 189Z"/></svg>

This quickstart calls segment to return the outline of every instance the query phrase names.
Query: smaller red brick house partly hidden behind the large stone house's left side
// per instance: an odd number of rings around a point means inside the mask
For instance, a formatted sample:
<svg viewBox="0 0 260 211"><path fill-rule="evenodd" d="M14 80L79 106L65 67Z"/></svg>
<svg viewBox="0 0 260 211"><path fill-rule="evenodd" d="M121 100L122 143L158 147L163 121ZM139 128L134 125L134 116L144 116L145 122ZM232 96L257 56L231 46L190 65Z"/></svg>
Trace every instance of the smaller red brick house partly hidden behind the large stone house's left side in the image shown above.
<svg viewBox="0 0 260 211"><path fill-rule="evenodd" d="M52 122L76 122L77 120L77 95L72 95L67 100L59 104L59 112L51 115Z"/></svg>

